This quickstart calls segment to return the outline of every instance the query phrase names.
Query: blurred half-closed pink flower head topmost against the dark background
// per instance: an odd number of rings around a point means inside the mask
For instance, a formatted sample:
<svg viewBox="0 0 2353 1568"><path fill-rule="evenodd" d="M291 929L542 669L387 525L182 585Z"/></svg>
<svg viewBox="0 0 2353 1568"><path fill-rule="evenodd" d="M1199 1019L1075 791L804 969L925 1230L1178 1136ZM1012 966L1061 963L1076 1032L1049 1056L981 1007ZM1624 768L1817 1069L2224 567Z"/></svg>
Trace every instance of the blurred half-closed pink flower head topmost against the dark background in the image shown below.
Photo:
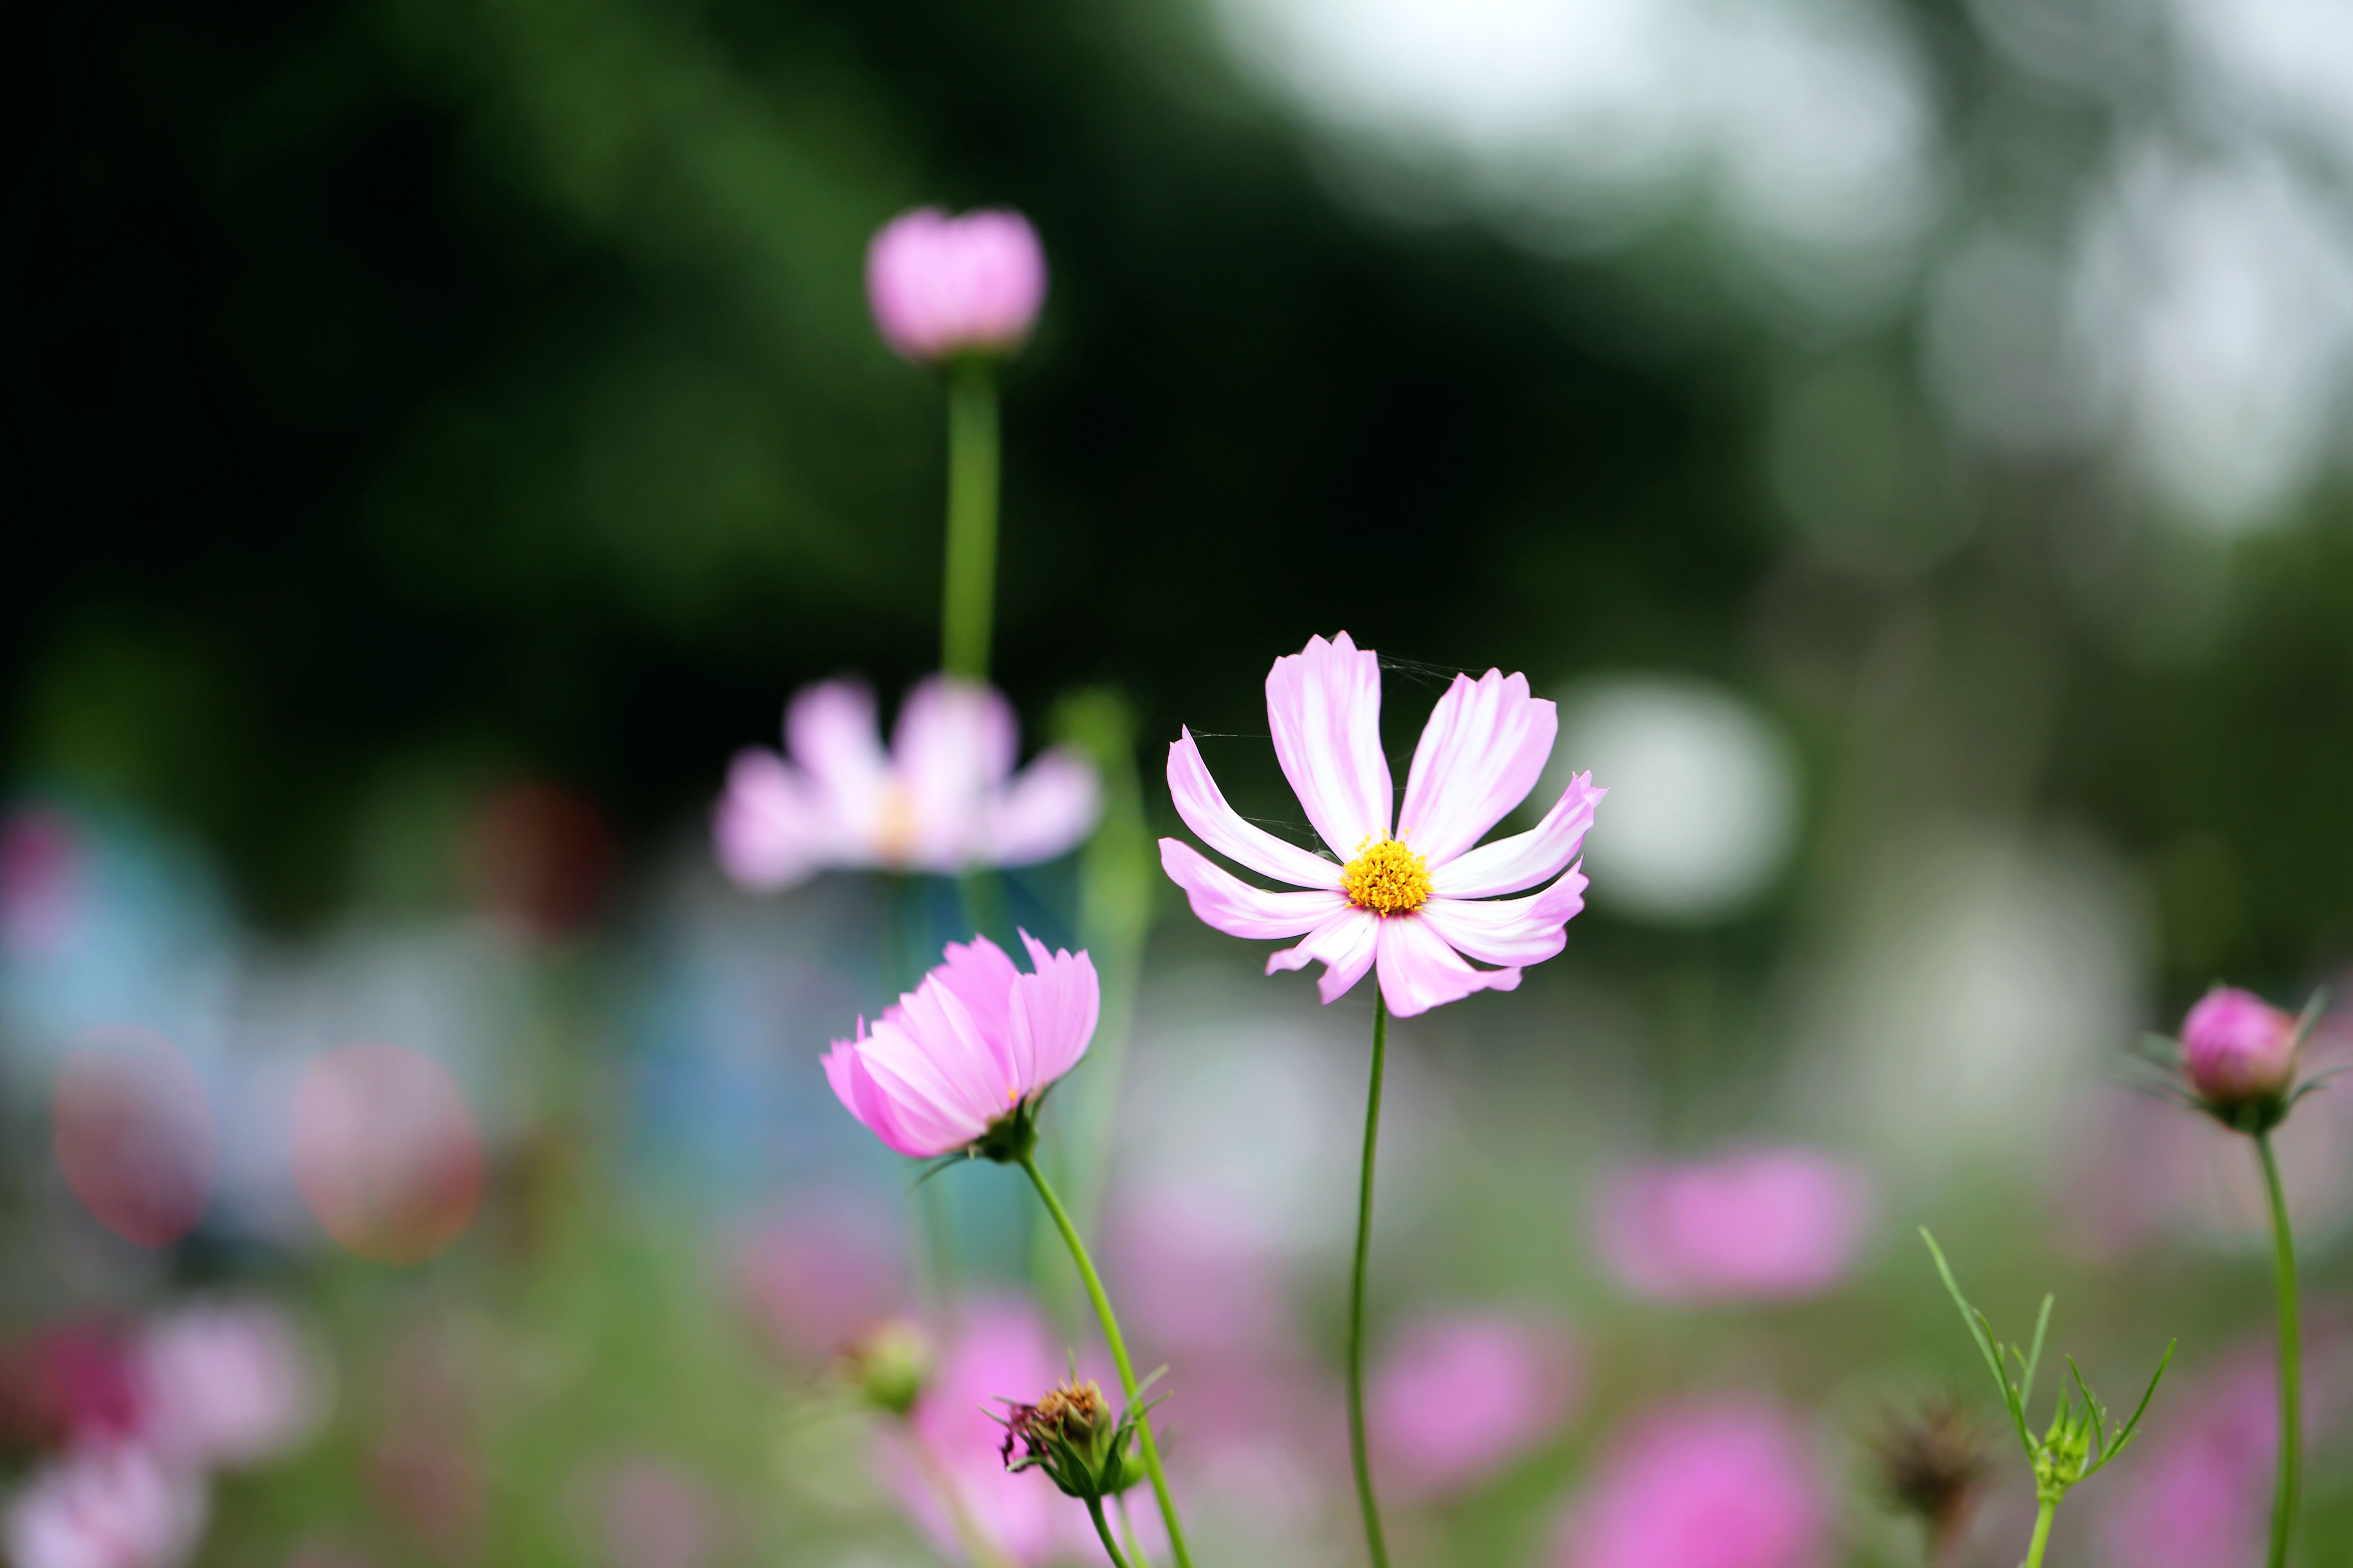
<svg viewBox="0 0 2353 1568"><path fill-rule="evenodd" d="M951 219L918 207L866 247L866 303L882 341L915 362L1012 353L1045 306L1045 252L1019 212Z"/></svg>

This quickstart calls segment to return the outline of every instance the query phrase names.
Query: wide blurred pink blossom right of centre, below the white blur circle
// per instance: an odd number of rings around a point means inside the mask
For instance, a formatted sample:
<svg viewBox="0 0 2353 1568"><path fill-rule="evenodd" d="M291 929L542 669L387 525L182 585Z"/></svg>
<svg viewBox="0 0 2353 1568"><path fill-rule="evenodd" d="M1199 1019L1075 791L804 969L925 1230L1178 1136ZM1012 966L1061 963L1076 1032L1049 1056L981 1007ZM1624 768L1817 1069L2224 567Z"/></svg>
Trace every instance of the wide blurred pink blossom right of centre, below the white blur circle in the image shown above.
<svg viewBox="0 0 2353 1568"><path fill-rule="evenodd" d="M1838 1284L1871 1182L1812 1150L1645 1164L1602 1182L1595 1232L1619 1284L1659 1300L1788 1300Z"/></svg>

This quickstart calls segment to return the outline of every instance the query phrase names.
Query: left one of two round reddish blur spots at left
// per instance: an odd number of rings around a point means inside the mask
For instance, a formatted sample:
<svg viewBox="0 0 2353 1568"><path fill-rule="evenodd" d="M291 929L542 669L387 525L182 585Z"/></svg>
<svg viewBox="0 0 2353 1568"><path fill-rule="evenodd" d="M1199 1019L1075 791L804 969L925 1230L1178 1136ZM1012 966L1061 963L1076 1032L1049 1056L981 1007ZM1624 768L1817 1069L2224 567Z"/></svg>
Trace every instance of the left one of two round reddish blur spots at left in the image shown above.
<svg viewBox="0 0 2353 1568"><path fill-rule="evenodd" d="M212 1201L214 1126L205 1084L153 1030L89 1030L49 1098L56 1164L106 1229L169 1246Z"/></svg>

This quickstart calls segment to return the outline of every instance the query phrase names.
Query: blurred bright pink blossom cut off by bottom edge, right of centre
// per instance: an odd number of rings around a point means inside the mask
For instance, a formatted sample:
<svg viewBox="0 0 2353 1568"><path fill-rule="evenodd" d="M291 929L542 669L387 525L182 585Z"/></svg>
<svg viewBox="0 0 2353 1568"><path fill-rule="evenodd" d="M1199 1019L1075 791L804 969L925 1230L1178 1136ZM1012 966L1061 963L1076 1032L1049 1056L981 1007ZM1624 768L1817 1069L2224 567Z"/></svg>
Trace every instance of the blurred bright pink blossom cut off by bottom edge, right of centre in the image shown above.
<svg viewBox="0 0 2353 1568"><path fill-rule="evenodd" d="M1558 1568L1817 1568L1831 1493L1786 1415L1751 1403L1671 1406L1605 1455L1569 1509Z"/></svg>

